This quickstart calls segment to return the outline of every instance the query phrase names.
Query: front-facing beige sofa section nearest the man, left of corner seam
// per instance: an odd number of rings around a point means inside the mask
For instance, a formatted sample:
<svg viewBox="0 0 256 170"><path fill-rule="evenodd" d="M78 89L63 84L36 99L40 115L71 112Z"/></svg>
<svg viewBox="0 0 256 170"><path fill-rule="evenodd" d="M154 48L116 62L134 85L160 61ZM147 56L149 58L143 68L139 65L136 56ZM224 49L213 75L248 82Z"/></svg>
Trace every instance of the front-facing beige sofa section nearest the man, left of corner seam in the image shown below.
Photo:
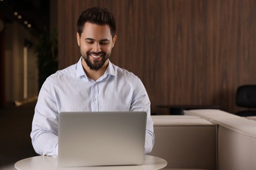
<svg viewBox="0 0 256 170"><path fill-rule="evenodd" d="M217 125L196 116L154 116L155 144L150 155L167 160L165 168L217 168Z"/></svg>

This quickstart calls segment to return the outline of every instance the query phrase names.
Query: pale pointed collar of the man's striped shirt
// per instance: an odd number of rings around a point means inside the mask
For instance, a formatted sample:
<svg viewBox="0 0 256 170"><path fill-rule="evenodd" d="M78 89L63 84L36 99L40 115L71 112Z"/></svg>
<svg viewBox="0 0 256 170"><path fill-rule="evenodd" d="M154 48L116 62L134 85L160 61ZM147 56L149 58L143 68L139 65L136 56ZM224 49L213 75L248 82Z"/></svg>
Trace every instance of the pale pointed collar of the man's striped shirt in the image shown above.
<svg viewBox="0 0 256 170"><path fill-rule="evenodd" d="M83 70L82 57L77 62L76 75L77 75L77 78L79 78L79 77L81 78L82 76L85 76L85 78L88 79L87 75L85 74L85 71ZM114 64L111 63L110 61L108 61L108 67L107 67L104 75L102 75L102 78L105 78L108 75L116 76L116 69L114 67Z"/></svg>

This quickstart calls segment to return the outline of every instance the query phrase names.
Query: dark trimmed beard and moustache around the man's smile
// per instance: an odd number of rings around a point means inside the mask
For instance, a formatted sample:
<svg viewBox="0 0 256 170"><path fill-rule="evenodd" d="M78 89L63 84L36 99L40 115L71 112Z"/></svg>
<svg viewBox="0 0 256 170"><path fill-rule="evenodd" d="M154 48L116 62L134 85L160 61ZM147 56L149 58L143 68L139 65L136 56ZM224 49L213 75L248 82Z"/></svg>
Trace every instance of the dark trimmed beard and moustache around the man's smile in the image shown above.
<svg viewBox="0 0 256 170"><path fill-rule="evenodd" d="M101 55L100 56L100 60L95 60L95 61L92 61L90 59L90 55L93 54L93 55ZM109 56L106 55L105 52L87 52L86 55L82 55L82 58L85 60L85 63L87 63L88 67L93 70L93 71L98 71L99 69L102 68L102 66L104 65L104 63L106 62L106 60L109 58Z"/></svg>

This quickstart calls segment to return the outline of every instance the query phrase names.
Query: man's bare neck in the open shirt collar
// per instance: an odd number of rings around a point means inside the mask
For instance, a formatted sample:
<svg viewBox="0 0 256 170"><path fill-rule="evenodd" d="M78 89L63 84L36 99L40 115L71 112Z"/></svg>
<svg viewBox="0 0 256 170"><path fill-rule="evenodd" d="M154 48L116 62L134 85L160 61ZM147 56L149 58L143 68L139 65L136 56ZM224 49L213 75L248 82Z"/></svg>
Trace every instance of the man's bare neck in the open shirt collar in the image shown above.
<svg viewBox="0 0 256 170"><path fill-rule="evenodd" d="M109 62L109 60L107 60L100 69L95 71L95 70L91 70L88 67L88 65L85 62L85 60L82 59L83 70L85 71L85 74L87 75L88 78L91 78L91 79L96 81L96 80L98 80L98 78L100 78L100 76L104 75L104 73L105 73L105 71L106 71L106 69L108 67L108 62Z"/></svg>

